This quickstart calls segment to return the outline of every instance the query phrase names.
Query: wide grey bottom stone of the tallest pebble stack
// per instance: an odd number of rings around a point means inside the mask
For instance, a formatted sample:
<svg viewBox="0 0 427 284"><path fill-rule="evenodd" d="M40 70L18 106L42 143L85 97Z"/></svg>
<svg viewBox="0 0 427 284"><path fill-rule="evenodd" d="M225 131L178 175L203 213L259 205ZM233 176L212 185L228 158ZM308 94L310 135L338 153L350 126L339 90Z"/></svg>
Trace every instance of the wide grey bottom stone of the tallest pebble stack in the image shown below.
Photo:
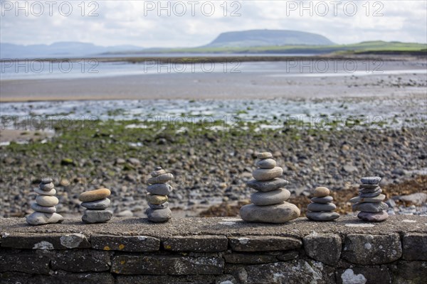
<svg viewBox="0 0 427 284"><path fill-rule="evenodd" d="M278 224L300 217L300 209L295 204L289 202L267 206L248 204L241 207L240 215L246 222Z"/></svg>

